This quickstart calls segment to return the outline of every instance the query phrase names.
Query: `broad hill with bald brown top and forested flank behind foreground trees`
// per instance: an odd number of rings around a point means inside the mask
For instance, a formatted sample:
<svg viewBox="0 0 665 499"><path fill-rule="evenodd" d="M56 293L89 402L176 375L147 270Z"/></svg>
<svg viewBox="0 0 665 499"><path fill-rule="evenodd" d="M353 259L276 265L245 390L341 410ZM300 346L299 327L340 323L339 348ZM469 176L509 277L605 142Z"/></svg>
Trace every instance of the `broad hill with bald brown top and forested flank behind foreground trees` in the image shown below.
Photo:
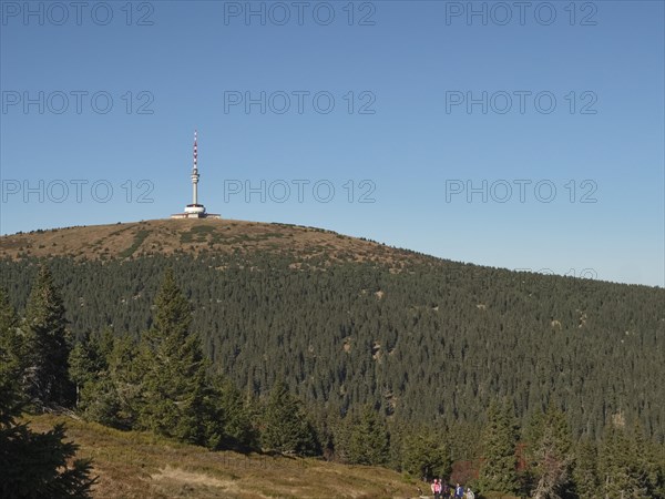
<svg viewBox="0 0 665 499"><path fill-rule="evenodd" d="M0 285L19 312L43 261L76 337L139 337L172 266L213 368L246 393L284 379L327 415L371 404L452 428L456 459L497 398L522 425L554 404L576 436L625 420L665 438L662 288L464 265L313 227L166 220L3 236Z"/></svg>

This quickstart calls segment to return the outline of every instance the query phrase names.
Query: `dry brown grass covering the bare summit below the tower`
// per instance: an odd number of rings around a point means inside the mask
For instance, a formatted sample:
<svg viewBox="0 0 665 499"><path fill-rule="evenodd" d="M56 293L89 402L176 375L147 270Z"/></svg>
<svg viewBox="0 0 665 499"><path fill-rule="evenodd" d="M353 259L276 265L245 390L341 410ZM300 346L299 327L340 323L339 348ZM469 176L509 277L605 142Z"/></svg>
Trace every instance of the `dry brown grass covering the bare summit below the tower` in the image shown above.
<svg viewBox="0 0 665 499"><path fill-rule="evenodd" d="M294 265L316 256L344 262L379 262L399 269L417 255L331 231L233 220L154 220L57 228L0 236L0 258L68 255L79 259L126 258L183 251L200 254L293 252Z"/></svg>

